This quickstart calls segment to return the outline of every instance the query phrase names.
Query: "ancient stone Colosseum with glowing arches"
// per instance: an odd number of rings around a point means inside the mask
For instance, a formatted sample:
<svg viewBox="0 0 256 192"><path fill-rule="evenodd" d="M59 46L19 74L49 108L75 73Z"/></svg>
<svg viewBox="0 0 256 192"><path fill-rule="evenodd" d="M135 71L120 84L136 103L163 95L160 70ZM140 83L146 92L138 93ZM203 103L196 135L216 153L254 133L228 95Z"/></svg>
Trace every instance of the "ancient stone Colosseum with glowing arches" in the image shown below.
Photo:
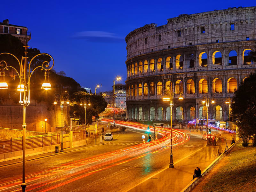
<svg viewBox="0 0 256 192"><path fill-rule="evenodd" d="M255 72L250 52L256 48L256 7L233 7L181 14L157 27L152 23L130 32L127 43L127 118L170 120L169 97L174 94L173 119L226 121L234 90ZM175 85L181 85L176 89ZM179 86L179 87L181 87ZM180 93L183 100L179 100Z"/></svg>

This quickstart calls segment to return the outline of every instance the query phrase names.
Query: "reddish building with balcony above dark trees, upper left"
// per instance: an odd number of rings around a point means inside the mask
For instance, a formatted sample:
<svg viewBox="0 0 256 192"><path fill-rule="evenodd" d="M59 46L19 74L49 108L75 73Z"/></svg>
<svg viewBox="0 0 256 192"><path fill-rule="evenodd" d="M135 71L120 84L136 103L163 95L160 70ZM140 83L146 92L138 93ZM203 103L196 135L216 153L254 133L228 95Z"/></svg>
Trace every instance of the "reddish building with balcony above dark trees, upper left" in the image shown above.
<svg viewBox="0 0 256 192"><path fill-rule="evenodd" d="M20 41L26 45L31 39L30 32L28 33L28 28L9 24L9 20L6 19L2 23L0 22L0 34L11 34L20 39Z"/></svg>

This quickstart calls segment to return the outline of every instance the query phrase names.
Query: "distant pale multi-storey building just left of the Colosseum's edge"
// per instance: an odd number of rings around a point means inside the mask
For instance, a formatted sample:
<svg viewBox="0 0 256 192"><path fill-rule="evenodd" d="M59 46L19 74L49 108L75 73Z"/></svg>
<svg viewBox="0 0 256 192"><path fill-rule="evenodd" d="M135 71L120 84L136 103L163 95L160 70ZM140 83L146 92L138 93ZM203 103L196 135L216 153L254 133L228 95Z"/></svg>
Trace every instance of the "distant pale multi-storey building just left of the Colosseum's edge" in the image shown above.
<svg viewBox="0 0 256 192"><path fill-rule="evenodd" d="M112 86L113 88L114 86ZM114 89L113 89L114 90ZM115 84L115 106L119 108L126 108L126 85L125 84Z"/></svg>

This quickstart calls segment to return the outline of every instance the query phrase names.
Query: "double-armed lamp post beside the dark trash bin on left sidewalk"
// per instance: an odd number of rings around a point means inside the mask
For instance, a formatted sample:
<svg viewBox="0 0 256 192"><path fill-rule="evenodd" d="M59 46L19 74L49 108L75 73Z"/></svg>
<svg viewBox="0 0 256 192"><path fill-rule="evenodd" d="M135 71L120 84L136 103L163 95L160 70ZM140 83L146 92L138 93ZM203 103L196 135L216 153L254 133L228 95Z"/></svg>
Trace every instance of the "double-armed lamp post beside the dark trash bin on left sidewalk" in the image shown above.
<svg viewBox="0 0 256 192"><path fill-rule="evenodd" d="M62 92L61 90L61 94L60 93L55 93L54 94L54 105L57 104L57 102L59 101L60 102L60 108L61 108L61 147L60 147L60 152L63 152L64 149L63 149L63 121L62 121L62 116L63 116L63 108L64 108L64 104L65 104L65 101L66 101L66 104L68 105L69 104L69 94L67 91L65 91L64 93Z"/></svg>

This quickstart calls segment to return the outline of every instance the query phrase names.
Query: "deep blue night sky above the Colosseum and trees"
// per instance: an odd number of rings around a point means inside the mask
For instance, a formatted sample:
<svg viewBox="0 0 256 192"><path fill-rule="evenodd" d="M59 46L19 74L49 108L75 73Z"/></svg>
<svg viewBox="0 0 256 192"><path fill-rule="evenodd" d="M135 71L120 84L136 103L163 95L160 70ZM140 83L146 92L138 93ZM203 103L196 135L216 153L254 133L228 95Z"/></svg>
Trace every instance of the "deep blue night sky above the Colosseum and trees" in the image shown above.
<svg viewBox="0 0 256 192"><path fill-rule="evenodd" d="M126 79L124 38L130 31L183 13L238 6L255 1L2 1L0 20L30 29L28 45L51 54L56 71L92 91L98 83L107 91L115 76Z"/></svg>

